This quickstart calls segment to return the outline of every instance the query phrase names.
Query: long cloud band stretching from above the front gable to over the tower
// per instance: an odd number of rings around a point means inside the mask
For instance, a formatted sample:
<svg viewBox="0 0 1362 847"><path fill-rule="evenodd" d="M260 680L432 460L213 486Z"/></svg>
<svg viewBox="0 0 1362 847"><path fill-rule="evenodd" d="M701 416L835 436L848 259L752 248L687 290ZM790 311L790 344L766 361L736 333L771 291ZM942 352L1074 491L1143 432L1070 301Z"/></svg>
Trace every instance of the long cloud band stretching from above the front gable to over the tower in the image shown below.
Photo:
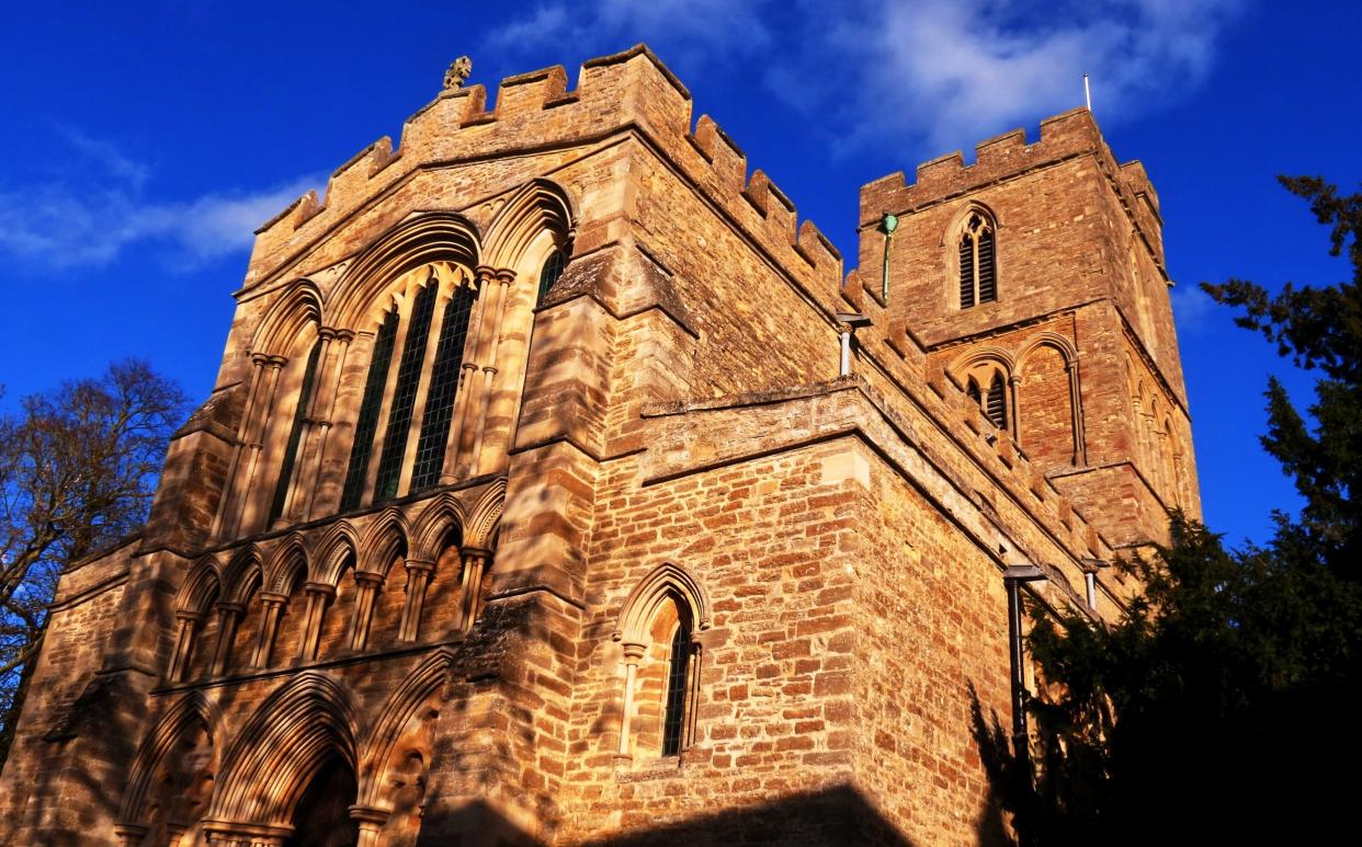
<svg viewBox="0 0 1362 847"><path fill-rule="evenodd" d="M972 144L1083 102L1105 124L1188 95L1214 65L1237 0L587 0L546 3L492 35L652 44L678 65L730 63L765 79L839 146Z"/></svg>

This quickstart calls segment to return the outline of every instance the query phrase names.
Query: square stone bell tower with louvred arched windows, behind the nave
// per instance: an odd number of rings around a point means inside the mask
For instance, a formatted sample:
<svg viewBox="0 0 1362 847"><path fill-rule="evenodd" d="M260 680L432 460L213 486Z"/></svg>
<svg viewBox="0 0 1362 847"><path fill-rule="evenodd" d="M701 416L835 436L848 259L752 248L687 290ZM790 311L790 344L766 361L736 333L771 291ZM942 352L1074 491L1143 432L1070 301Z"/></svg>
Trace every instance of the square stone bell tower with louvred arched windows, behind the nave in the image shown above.
<svg viewBox="0 0 1362 847"><path fill-rule="evenodd" d="M888 309L1115 545L1200 516L1159 199L1075 109L861 191ZM878 287L878 286L876 286Z"/></svg>

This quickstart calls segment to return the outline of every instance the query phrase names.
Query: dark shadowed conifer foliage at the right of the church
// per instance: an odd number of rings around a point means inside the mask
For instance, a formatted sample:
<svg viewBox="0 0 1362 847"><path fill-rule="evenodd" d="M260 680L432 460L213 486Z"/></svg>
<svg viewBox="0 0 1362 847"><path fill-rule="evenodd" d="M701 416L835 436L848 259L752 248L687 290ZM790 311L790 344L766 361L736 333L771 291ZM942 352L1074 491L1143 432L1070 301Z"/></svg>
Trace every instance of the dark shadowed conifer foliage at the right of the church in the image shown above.
<svg viewBox="0 0 1362 847"><path fill-rule="evenodd" d="M1282 178L1331 229L1352 278L1275 295L1203 289L1283 357L1317 372L1301 414L1275 379L1264 449L1295 481L1269 545L1227 550L1171 516L1171 543L1118 566L1147 587L1110 628L1034 611L1034 775L977 712L977 738L1024 844L1355 840L1362 763L1362 193Z"/></svg>

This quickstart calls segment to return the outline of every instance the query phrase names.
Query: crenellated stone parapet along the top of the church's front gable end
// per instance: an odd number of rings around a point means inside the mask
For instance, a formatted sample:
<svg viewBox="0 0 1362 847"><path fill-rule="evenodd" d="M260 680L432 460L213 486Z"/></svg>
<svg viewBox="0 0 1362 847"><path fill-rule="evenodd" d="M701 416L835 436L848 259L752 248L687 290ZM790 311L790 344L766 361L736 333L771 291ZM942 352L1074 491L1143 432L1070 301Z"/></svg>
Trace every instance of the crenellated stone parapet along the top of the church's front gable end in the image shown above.
<svg viewBox="0 0 1362 847"><path fill-rule="evenodd" d="M748 174L738 146L708 116L692 129L685 86L646 45L582 64L575 90L561 65L501 80L488 110L482 86L443 91L407 118L396 150L379 139L342 165L326 196L305 195L256 231L238 294L274 279L313 244L424 167L537 148L583 146L642 131L730 217L828 302L842 286L842 257L764 173ZM508 187L509 188L509 187Z"/></svg>

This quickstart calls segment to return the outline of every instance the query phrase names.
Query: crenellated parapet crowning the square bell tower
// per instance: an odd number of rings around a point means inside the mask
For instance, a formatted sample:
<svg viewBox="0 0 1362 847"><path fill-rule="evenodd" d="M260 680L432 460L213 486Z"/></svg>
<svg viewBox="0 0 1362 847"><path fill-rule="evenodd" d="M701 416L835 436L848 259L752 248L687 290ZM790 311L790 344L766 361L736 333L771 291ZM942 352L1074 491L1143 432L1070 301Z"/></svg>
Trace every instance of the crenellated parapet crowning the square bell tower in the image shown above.
<svg viewBox="0 0 1362 847"><path fill-rule="evenodd" d="M1159 195L1154 191L1143 163L1139 161L1117 163L1092 113L1086 108L1041 121L1038 142L1028 144L1023 129L1012 129L979 142L974 150L972 165L966 165L959 151L918 165L913 184L907 182L900 170L862 185L859 215L862 233L878 227L885 214L910 214L1039 167L1092 155L1120 196L1132 226L1150 245L1159 270L1165 272L1165 278L1167 276L1163 264Z"/></svg>

